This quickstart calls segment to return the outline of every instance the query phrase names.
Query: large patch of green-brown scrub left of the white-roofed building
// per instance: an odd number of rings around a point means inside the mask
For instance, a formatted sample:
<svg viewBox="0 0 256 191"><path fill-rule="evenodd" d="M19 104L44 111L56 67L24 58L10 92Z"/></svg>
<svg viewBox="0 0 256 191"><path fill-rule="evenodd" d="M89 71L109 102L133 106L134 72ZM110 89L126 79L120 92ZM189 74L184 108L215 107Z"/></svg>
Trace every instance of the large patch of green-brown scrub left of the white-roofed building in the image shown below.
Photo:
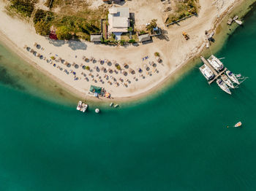
<svg viewBox="0 0 256 191"><path fill-rule="evenodd" d="M104 6L91 10L88 4L81 1L46 1L45 5L50 8L61 5L58 12L53 9L48 11L35 9L37 2L37 0L12 0L7 9L24 18L31 18L37 34L48 35L52 26L57 28L56 34L59 39L74 38L89 41L90 34L97 34L101 31L100 20L107 15ZM80 7L79 10L71 8L71 5L75 3Z"/></svg>

